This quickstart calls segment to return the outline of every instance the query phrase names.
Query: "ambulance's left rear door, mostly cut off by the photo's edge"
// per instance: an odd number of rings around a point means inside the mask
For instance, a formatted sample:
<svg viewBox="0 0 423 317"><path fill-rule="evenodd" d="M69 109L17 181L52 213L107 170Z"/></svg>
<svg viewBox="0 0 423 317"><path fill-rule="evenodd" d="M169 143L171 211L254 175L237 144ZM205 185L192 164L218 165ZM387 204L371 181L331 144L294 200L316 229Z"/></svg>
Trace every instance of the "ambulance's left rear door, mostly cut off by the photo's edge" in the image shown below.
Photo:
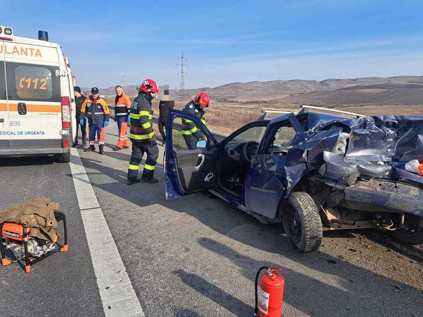
<svg viewBox="0 0 423 317"><path fill-rule="evenodd" d="M6 76L4 75L4 50L0 41L0 150L10 149L9 111L7 108Z"/></svg>

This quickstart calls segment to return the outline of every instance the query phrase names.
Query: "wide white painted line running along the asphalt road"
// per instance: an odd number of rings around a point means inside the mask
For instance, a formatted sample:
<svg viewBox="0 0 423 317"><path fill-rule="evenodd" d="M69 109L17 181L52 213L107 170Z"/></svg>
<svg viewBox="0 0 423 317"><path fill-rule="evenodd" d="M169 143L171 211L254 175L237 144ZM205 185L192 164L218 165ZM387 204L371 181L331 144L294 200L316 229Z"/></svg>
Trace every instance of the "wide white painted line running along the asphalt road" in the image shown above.
<svg viewBox="0 0 423 317"><path fill-rule="evenodd" d="M71 148L69 165L104 314L145 317L78 150L75 148Z"/></svg>

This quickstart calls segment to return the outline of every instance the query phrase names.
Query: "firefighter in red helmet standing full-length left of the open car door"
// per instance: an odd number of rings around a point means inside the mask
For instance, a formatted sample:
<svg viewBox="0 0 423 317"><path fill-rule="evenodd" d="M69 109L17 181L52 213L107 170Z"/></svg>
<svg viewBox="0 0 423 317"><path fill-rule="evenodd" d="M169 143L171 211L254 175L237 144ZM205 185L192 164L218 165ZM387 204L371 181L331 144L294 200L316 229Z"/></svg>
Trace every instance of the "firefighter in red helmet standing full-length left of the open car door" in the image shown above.
<svg viewBox="0 0 423 317"><path fill-rule="evenodd" d="M153 116L151 100L159 89L155 81L146 79L138 90L138 96L132 101L129 113L131 119L129 139L132 142L132 154L128 166L128 185L139 183L140 181L148 183L158 182L157 178L153 177L158 158L158 147L151 124ZM138 168L144 153L147 153L147 159L144 164L143 176L140 180L137 177Z"/></svg>

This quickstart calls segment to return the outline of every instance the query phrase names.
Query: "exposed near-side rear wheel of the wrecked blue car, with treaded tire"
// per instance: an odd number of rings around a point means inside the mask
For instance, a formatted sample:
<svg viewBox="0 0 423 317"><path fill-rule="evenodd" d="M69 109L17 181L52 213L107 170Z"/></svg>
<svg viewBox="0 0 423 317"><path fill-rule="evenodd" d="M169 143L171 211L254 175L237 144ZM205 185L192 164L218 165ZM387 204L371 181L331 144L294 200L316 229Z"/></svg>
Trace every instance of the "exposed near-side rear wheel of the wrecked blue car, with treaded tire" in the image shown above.
<svg viewBox="0 0 423 317"><path fill-rule="evenodd" d="M319 249L323 237L322 220L316 203L307 193L289 195L282 214L282 225L297 251L306 253Z"/></svg>

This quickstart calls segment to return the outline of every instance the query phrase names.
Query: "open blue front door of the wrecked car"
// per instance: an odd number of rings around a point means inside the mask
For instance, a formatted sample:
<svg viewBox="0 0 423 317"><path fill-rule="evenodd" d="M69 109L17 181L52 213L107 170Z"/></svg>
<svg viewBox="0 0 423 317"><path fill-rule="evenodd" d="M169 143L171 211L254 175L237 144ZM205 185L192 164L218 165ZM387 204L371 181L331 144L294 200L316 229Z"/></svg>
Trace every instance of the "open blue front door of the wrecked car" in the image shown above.
<svg viewBox="0 0 423 317"><path fill-rule="evenodd" d="M166 133L166 198L212 188L217 178L217 141L206 126L194 115L172 110Z"/></svg>

